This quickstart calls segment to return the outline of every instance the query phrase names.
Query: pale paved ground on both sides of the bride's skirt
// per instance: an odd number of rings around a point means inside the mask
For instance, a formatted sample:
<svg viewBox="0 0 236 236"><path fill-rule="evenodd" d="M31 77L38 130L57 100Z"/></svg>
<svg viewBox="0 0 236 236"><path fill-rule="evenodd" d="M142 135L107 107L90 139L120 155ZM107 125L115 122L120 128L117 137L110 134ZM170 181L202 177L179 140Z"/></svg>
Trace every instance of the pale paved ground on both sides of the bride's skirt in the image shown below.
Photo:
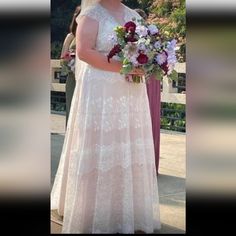
<svg viewBox="0 0 236 236"><path fill-rule="evenodd" d="M64 140L65 116L52 114L51 120L53 181ZM185 142L185 134L161 131L158 185L162 229L159 233L185 233ZM55 212L51 215L51 233L60 233L61 219Z"/></svg>

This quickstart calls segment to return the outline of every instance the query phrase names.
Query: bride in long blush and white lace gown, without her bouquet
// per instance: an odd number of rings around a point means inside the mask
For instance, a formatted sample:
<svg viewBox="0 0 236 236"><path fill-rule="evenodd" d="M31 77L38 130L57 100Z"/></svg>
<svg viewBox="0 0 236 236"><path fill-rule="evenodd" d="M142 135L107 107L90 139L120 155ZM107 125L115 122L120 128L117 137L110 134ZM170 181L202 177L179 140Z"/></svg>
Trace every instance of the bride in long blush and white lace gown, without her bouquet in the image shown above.
<svg viewBox="0 0 236 236"><path fill-rule="evenodd" d="M76 88L51 193L62 233L153 233L159 196L146 85L107 62L117 25L140 16L121 0L82 0ZM134 70L131 74L142 74Z"/></svg>

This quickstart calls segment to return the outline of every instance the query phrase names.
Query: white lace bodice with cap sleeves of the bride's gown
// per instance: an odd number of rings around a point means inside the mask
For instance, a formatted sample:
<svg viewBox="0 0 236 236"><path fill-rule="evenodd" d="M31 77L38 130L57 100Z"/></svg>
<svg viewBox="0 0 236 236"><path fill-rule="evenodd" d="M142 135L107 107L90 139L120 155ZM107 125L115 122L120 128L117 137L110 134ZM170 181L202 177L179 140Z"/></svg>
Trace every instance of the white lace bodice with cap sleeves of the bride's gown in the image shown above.
<svg viewBox="0 0 236 236"><path fill-rule="evenodd" d="M124 23L132 20L132 18L141 18L134 10L124 6ZM86 9L82 15L88 16L99 22L99 30L96 42L96 49L100 52L109 52L114 46L111 41L108 40L109 36L114 32L114 27L120 25L117 20L105 9L101 4L96 3L94 6ZM79 18L77 18L78 21Z"/></svg>

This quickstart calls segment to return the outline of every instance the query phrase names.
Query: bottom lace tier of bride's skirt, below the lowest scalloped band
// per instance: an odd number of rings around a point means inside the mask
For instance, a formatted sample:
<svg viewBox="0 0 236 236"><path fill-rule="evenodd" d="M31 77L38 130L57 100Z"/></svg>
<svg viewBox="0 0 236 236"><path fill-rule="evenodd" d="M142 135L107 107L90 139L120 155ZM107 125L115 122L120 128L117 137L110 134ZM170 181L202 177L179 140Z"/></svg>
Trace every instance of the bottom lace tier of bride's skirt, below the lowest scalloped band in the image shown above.
<svg viewBox="0 0 236 236"><path fill-rule="evenodd" d="M153 165L134 164L130 169L117 166L108 172L93 170L86 176L77 175L77 180L76 184L68 182L75 193L66 199L74 217L64 218L63 233L133 234L135 230L153 233L160 229ZM65 215L71 214L71 209L66 208Z"/></svg>

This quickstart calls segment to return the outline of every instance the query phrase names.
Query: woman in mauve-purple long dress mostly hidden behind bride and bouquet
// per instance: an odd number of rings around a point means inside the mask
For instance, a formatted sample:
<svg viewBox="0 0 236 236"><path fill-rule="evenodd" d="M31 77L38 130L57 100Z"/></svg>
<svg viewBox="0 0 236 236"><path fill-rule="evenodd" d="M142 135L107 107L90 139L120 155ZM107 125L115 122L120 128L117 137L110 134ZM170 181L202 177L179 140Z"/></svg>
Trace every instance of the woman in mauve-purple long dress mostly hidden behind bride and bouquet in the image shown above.
<svg viewBox="0 0 236 236"><path fill-rule="evenodd" d="M146 21L148 15L142 9L135 11ZM160 159L160 127L161 127L161 83L160 80L151 78L147 82L147 94L152 118L152 133L155 148L156 171L158 174Z"/></svg>

